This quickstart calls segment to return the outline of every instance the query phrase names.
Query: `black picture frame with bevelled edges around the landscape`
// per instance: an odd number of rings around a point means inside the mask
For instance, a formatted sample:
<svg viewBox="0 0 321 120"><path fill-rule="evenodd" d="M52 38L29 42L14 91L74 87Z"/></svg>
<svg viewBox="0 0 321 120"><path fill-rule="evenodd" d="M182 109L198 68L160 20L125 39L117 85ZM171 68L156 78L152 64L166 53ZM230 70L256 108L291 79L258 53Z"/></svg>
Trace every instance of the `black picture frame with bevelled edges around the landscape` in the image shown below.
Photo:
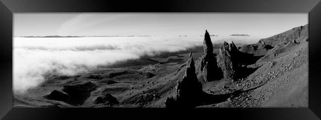
<svg viewBox="0 0 321 120"><path fill-rule="evenodd" d="M246 119L321 118L320 0L0 0L0 118ZM309 13L309 108L13 108L13 13L21 12L286 12Z"/></svg>

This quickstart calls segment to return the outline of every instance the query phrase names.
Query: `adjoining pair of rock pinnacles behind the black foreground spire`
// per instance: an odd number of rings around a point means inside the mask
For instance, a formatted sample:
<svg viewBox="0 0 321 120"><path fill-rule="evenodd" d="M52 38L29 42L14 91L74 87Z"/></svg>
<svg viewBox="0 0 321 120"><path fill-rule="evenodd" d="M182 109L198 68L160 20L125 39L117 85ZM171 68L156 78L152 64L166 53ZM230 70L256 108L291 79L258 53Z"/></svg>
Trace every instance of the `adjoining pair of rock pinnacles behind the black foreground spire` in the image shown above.
<svg viewBox="0 0 321 120"><path fill-rule="evenodd" d="M264 42L263 42L264 44ZM196 72L198 79L204 82L213 80L220 80L221 78L235 78L237 71L237 58L239 56L239 49L234 42L224 42L220 48L219 55L215 57L213 54L213 45L210 36L205 31L203 41L204 55L196 61Z"/></svg>

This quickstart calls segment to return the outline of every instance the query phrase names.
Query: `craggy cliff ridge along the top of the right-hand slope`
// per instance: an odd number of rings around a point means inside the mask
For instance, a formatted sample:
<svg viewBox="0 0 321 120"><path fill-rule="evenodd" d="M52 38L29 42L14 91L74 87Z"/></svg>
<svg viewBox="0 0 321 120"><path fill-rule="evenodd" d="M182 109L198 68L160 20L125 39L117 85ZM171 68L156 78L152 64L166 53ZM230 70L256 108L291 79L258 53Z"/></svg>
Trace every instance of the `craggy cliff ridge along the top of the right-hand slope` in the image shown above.
<svg viewBox="0 0 321 120"><path fill-rule="evenodd" d="M287 44L295 40L298 43L309 41L309 24L295 27L280 34L260 39L256 44L244 45L240 51L244 53L254 54L255 56L263 56L268 50L280 44Z"/></svg>

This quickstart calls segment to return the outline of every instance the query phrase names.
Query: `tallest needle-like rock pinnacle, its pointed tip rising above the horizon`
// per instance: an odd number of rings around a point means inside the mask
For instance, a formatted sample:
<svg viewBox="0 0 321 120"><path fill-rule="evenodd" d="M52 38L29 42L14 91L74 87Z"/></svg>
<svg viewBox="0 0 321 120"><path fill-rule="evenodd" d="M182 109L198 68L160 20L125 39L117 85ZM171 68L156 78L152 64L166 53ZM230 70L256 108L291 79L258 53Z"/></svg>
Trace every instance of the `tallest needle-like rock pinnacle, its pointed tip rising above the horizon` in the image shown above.
<svg viewBox="0 0 321 120"><path fill-rule="evenodd" d="M216 79L215 74L218 74L219 71L213 54L213 44L207 30L204 35L203 51L204 55L196 61L196 72L198 78L202 78L205 82L213 81Z"/></svg>

